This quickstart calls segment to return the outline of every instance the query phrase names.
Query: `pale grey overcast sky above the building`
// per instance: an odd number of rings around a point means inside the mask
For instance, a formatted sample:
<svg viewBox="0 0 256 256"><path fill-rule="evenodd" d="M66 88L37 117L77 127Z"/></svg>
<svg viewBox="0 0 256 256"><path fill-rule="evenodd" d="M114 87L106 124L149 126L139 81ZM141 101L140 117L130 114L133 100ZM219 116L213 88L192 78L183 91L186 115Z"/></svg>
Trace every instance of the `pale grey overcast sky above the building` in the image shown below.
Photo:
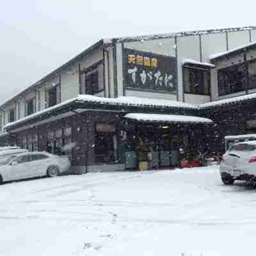
<svg viewBox="0 0 256 256"><path fill-rule="evenodd" d="M100 38L256 26L255 1L4 1L0 104Z"/></svg>

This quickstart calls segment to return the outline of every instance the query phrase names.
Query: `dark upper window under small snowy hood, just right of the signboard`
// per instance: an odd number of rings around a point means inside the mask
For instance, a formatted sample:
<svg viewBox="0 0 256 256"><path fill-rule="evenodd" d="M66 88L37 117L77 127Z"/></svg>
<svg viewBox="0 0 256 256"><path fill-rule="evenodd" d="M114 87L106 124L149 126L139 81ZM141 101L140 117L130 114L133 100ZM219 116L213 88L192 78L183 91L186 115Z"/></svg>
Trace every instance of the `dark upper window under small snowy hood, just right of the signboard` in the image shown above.
<svg viewBox="0 0 256 256"><path fill-rule="evenodd" d="M185 93L210 95L211 73L204 68L184 67Z"/></svg>

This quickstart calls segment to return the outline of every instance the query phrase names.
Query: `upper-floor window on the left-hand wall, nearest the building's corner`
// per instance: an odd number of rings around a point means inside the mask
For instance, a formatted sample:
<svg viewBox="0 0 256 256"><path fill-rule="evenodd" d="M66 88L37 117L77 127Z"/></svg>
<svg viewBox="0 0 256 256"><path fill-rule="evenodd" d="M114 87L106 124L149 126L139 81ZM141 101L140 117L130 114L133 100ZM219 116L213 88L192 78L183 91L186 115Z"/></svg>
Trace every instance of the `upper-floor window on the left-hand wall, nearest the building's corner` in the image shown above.
<svg viewBox="0 0 256 256"><path fill-rule="evenodd" d="M81 72L80 76L81 93L93 95L102 92L103 86L103 65L97 65L94 68L88 68Z"/></svg>

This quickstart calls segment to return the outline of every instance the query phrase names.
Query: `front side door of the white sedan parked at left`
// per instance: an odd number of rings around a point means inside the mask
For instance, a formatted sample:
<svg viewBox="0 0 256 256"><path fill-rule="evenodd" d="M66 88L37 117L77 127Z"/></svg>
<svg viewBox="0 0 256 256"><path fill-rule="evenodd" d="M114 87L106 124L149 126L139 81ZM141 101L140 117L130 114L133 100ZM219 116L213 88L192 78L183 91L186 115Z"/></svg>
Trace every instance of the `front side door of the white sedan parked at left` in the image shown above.
<svg viewBox="0 0 256 256"><path fill-rule="evenodd" d="M31 155L19 156L13 159L10 163L10 177L11 179L25 179L29 177L30 168L29 163L31 162Z"/></svg>

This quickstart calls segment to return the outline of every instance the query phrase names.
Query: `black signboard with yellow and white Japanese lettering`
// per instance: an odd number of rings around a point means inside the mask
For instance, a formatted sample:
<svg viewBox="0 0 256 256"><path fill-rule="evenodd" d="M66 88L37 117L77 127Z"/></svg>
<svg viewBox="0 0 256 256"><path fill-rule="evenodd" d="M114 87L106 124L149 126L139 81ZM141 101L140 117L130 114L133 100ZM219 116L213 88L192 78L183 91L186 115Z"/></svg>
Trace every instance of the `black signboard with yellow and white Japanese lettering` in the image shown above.
<svg viewBox="0 0 256 256"><path fill-rule="evenodd" d="M176 58L151 52L124 49L125 88L175 93Z"/></svg>

